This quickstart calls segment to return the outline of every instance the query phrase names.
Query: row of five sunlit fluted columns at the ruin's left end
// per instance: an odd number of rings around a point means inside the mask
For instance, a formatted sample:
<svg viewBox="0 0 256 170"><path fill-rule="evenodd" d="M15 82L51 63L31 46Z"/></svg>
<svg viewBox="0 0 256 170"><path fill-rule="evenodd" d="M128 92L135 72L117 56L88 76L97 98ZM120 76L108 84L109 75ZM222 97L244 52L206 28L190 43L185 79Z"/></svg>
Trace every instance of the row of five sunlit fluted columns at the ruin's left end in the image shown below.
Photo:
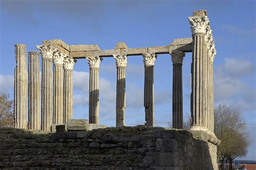
<svg viewBox="0 0 256 170"><path fill-rule="evenodd" d="M29 52L29 75L26 68L26 46L15 45L15 128L50 131L51 124L65 124L72 118L75 60L50 45L37 46L42 55L42 97L40 123L39 52ZM53 77L52 77L53 62ZM64 69L63 69L64 68ZM29 77L29 83L28 83ZM52 83L53 80L53 83ZM28 83L28 84L27 84ZM27 96L28 112L27 112Z"/></svg>

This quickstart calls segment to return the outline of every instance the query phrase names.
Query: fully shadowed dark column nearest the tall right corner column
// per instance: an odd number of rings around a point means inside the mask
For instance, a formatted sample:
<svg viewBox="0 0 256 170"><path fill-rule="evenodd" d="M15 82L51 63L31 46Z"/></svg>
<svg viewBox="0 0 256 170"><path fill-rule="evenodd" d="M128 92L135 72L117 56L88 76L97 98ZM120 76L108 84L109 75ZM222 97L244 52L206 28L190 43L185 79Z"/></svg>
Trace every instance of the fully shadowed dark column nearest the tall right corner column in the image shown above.
<svg viewBox="0 0 256 170"><path fill-rule="evenodd" d="M183 129L183 88L182 88L182 62L184 52L171 52L173 65L172 80L172 126Z"/></svg>

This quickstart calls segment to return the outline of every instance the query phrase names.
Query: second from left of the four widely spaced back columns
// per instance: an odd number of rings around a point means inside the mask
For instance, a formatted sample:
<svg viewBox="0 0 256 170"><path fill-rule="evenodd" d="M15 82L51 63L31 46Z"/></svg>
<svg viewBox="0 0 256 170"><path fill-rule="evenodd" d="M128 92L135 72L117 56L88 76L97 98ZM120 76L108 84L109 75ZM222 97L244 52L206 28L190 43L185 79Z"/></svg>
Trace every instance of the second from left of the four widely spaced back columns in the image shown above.
<svg viewBox="0 0 256 170"><path fill-rule="evenodd" d="M125 95L125 67L127 65L126 55L113 55L117 65L117 102L116 102L116 126L125 126L124 110L126 107Z"/></svg>

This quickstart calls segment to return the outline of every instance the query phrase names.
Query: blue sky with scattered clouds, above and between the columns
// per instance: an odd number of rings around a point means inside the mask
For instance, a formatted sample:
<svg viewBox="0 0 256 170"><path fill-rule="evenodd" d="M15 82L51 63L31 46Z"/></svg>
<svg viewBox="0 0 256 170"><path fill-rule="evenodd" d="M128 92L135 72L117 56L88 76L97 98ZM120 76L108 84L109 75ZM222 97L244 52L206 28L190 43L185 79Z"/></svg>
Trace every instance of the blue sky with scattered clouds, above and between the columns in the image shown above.
<svg viewBox="0 0 256 170"><path fill-rule="evenodd" d="M42 40L97 44L112 49L167 46L191 37L187 17L206 9L217 55L214 60L214 102L240 108L253 142L246 157L256 160L255 1L14 1L0 0L0 91L13 97L15 44L38 51ZM129 56L126 67L126 125L144 124L142 56ZM184 115L190 114L191 53L183 62ZM115 125L116 66L100 63L100 123ZM89 66L74 68L74 118L88 118ZM155 124L167 126L172 110L172 62L159 55L154 66Z"/></svg>

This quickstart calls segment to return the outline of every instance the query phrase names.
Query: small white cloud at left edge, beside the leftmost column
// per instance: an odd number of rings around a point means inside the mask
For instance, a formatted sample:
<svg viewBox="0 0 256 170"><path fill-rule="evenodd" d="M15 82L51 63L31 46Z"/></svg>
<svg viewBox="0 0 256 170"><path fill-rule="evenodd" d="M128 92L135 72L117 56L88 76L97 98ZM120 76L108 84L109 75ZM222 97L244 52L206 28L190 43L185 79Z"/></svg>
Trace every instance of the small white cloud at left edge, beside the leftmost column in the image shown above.
<svg viewBox="0 0 256 170"><path fill-rule="evenodd" d="M10 93L14 90L14 76L0 75L0 92Z"/></svg>

